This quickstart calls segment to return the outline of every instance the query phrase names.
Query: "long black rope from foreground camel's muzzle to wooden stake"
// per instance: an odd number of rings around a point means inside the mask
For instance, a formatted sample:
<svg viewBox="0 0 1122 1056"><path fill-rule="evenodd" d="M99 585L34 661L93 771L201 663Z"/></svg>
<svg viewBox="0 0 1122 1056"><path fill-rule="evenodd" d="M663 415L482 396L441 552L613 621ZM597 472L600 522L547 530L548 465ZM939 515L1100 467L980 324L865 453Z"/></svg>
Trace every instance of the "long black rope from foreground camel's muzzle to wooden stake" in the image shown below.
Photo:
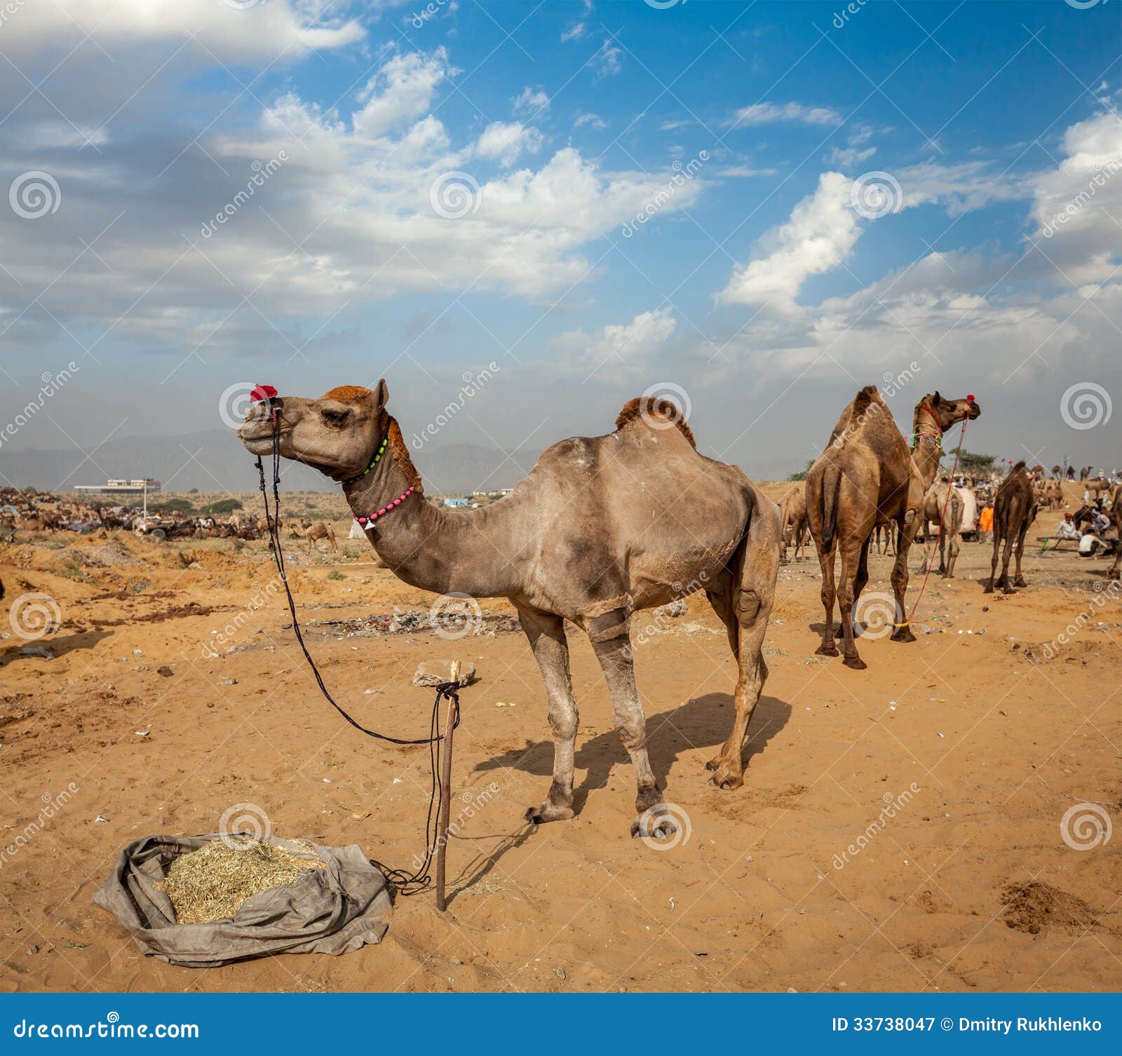
<svg viewBox="0 0 1122 1056"><path fill-rule="evenodd" d="M304 659L307 661L309 667L312 669L312 673L315 676L315 681L320 687L320 692L323 694L328 704L330 704L331 707L333 707L344 719L347 719L351 726L360 733L365 733L368 737L377 737L377 740L387 741L390 744L429 745L429 811L425 815L425 851L421 865L416 872L410 873L404 869L395 869L393 866L385 865L376 858L369 860L370 864L386 878L387 883L396 887L402 894L417 894L421 891L424 891L432 883L432 878L429 875L429 871L432 867L436 845L441 837L439 804L441 801L441 793L443 792L443 784L440 777L440 753L436 745L444 740L444 735L440 732L440 701L443 699L450 703L450 707L452 709L451 728L454 729L460 725L460 697L456 691L459 688L459 682L441 682L436 687L436 696L432 703L432 717L429 722L429 736L417 737L415 740L392 737L388 734L378 733L376 729L368 729L352 716L348 715L328 691L328 687L323 682L323 676L320 674L320 669L315 665L312 654L307 651L307 646L304 644L304 637L300 633L300 621L296 618L296 602L292 596L292 589L288 587L288 577L285 572L284 551L280 549L280 434L277 429L277 412L275 408L270 407L270 410L273 412L272 512L269 511L268 490L265 486L265 466L261 463L260 456L257 457L257 475L260 478L261 496L265 499L265 523L268 527L269 545L273 550L273 561L277 567L277 573L280 577L280 582L284 585L285 596L288 599L288 612L292 613L292 628L296 633L296 641L300 643L300 648L304 653Z"/></svg>

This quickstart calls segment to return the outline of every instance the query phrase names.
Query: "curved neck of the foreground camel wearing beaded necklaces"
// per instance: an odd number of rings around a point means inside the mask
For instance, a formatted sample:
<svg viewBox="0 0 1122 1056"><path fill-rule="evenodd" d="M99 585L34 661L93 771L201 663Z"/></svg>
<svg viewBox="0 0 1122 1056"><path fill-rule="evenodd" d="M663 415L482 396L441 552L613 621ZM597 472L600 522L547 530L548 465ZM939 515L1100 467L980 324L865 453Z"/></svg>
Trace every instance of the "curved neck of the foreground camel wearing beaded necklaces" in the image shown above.
<svg viewBox="0 0 1122 1056"><path fill-rule="evenodd" d="M407 460L406 460L407 462ZM452 513L425 498L412 465L403 466L388 449L377 466L343 486L356 517L379 515L364 531L378 557L399 579L435 594L508 597L518 593L514 570L499 560L511 553L503 518L487 508ZM402 502L410 487L414 490Z"/></svg>

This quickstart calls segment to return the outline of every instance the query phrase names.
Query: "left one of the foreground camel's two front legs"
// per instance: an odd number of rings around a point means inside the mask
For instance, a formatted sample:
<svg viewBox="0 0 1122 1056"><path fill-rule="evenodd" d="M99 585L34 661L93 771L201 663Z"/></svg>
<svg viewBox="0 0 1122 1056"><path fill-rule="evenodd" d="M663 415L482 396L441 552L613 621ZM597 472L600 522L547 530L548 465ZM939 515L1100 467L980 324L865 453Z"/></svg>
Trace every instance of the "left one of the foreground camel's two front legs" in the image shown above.
<svg viewBox="0 0 1122 1056"><path fill-rule="evenodd" d="M572 817L573 749L577 743L577 701L569 676L569 643L564 621L552 613L518 609L518 622L545 682L550 729L553 731L553 781L545 802L531 807L526 820L535 824L568 821Z"/></svg>

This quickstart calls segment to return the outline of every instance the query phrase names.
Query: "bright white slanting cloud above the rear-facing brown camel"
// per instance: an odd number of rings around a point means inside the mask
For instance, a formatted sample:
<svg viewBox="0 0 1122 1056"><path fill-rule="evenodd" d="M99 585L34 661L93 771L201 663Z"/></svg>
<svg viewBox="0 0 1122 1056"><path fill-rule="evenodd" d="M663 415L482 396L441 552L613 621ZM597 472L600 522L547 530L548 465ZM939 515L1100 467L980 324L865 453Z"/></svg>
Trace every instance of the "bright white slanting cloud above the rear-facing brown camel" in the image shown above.
<svg viewBox="0 0 1122 1056"><path fill-rule="evenodd" d="M760 252L733 272L720 294L726 304L766 303L795 313L795 299L811 275L843 263L861 233L849 198L852 181L842 173L822 173L813 194L802 199L790 219L762 239Z"/></svg>

